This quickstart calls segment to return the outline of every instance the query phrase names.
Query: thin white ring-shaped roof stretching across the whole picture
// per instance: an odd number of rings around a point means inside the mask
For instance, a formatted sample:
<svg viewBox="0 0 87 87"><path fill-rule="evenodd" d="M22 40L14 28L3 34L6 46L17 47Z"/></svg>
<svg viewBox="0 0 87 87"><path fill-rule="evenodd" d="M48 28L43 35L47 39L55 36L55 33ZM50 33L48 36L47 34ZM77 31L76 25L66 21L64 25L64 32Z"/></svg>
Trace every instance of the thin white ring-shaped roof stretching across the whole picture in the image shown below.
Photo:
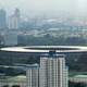
<svg viewBox="0 0 87 87"><path fill-rule="evenodd" d="M28 47L7 47L1 48L1 51L9 52L49 52L49 50L55 50L57 52L87 52L87 47L83 46L28 46Z"/></svg>

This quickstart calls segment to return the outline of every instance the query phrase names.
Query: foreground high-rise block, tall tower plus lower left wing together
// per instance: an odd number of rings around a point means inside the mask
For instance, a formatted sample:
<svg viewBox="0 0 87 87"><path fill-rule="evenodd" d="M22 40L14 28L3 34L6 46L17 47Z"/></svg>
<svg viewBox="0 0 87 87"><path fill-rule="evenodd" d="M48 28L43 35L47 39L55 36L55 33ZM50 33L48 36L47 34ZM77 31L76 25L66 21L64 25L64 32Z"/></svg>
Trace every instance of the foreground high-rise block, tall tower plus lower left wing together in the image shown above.
<svg viewBox="0 0 87 87"><path fill-rule="evenodd" d="M50 51L40 57L40 65L26 66L26 87L69 87L65 55Z"/></svg>

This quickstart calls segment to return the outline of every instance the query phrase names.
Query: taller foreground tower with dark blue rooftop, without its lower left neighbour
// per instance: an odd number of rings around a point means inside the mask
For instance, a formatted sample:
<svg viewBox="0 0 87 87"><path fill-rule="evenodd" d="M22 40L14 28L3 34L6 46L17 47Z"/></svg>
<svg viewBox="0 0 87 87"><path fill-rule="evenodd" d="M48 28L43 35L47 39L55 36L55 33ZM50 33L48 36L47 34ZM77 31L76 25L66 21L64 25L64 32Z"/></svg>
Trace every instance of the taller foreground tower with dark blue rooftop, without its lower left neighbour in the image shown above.
<svg viewBox="0 0 87 87"><path fill-rule="evenodd" d="M41 55L39 87L67 87L67 67L65 57L50 51Z"/></svg>

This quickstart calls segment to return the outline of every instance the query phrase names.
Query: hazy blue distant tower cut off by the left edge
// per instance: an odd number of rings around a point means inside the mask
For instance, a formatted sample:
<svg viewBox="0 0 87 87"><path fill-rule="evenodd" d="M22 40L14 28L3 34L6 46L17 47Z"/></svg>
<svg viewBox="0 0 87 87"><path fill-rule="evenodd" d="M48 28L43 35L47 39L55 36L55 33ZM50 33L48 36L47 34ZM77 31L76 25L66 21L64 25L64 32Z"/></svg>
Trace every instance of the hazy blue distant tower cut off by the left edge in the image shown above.
<svg viewBox="0 0 87 87"><path fill-rule="evenodd" d="M0 29L7 27L7 12L5 10L0 10Z"/></svg>

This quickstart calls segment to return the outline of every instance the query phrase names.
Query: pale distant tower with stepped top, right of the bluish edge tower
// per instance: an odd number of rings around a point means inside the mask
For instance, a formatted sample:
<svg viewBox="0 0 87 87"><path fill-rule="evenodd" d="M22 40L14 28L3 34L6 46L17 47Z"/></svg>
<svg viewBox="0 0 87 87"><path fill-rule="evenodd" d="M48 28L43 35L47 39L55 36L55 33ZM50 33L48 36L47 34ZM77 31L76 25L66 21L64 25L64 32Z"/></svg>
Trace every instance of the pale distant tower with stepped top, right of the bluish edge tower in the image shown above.
<svg viewBox="0 0 87 87"><path fill-rule="evenodd" d="M13 15L9 16L9 28L18 29L21 23L20 10L15 9Z"/></svg>

